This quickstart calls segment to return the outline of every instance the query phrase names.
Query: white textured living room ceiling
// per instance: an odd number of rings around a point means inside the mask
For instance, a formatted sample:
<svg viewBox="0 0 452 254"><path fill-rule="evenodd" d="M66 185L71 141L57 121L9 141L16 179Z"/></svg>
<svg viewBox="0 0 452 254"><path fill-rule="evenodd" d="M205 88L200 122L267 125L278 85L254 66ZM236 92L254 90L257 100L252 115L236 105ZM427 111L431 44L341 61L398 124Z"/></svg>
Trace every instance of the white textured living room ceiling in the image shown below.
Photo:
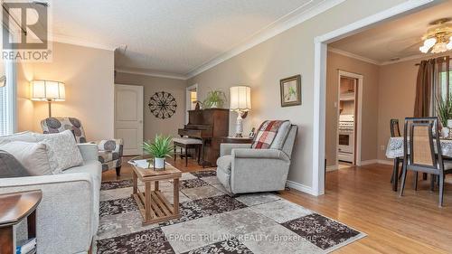
<svg viewBox="0 0 452 254"><path fill-rule="evenodd" d="M323 0L54 0L53 34L121 47L115 67L184 75ZM124 51L124 47L127 50Z"/></svg>

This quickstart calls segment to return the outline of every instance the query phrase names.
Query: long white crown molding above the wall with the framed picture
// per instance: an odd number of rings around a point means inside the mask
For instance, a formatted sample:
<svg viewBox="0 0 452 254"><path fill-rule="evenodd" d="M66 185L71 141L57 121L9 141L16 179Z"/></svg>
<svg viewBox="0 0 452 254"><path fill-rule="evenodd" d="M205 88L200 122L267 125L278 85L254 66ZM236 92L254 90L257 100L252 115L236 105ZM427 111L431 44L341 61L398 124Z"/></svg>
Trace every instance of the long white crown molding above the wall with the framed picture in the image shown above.
<svg viewBox="0 0 452 254"><path fill-rule="evenodd" d="M250 48L258 45L259 43L265 42L268 39L278 35L279 33L283 33L288 29L296 26L297 24L301 24L306 20L314 17L315 15L321 14L326 10L333 8L335 5L342 4L344 1L345 0L324 0L319 4L310 6L308 9L304 9L306 6L312 5L313 0L311 0L305 5L298 7L297 10L279 18L272 24L269 24L258 33L252 34L250 38L246 40L246 42L240 43L239 45L233 47L229 52L224 52L211 61L207 61L202 65L194 68L192 71L189 71L186 74L186 77L188 79L191 79L194 76L202 73L203 71L207 71L212 67L220 64L221 62L227 61L232 57L240 54L241 52L245 52Z"/></svg>

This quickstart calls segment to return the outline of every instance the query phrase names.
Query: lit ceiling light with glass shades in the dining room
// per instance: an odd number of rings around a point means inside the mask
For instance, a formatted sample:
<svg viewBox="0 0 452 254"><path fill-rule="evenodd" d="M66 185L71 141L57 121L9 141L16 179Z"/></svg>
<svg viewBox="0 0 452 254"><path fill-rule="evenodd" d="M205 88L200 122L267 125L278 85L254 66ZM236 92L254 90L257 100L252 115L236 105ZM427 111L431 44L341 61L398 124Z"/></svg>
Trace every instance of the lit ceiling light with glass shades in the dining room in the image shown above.
<svg viewBox="0 0 452 254"><path fill-rule="evenodd" d="M419 48L423 53L440 53L452 50L452 24L450 18L438 19L430 25L427 33L422 37L424 44Z"/></svg>

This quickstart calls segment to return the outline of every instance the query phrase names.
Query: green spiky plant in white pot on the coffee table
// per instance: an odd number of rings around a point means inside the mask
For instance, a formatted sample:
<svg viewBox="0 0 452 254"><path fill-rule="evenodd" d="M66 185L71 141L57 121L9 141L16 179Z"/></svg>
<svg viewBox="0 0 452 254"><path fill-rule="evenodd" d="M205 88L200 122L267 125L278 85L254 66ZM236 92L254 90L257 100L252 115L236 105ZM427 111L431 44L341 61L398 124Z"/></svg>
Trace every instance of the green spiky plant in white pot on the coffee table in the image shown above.
<svg viewBox="0 0 452 254"><path fill-rule="evenodd" d="M143 150L154 157L154 168L165 168L165 157L173 153L173 138L171 136L155 135L154 142L143 142Z"/></svg>

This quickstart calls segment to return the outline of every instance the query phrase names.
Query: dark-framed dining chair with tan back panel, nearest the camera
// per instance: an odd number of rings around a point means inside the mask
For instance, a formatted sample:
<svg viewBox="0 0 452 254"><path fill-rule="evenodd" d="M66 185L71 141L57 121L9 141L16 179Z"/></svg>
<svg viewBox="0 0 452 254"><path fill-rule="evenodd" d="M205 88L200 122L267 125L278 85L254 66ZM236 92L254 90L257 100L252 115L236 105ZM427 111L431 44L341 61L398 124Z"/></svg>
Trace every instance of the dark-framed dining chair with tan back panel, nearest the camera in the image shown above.
<svg viewBox="0 0 452 254"><path fill-rule="evenodd" d="M438 118L405 118L403 133L403 167L400 196L403 195L408 171L414 171L414 190L418 189L418 172L431 174L431 189L434 188L433 175L439 178L439 206L443 205L445 174L452 173L452 164L443 161L438 135ZM437 151L437 153L435 153Z"/></svg>

